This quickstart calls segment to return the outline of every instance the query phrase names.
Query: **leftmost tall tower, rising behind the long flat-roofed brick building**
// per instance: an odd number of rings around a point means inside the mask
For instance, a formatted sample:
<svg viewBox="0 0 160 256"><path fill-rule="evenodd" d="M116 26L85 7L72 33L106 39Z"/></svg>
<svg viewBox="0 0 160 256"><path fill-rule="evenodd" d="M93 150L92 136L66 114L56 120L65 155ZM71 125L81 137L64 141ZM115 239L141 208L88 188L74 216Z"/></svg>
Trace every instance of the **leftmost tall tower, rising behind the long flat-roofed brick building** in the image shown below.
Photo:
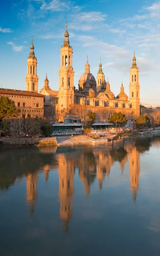
<svg viewBox="0 0 160 256"><path fill-rule="evenodd" d="M34 55L33 38L31 39L30 53L27 58L26 90L38 93L38 76L36 75L36 57Z"/></svg>

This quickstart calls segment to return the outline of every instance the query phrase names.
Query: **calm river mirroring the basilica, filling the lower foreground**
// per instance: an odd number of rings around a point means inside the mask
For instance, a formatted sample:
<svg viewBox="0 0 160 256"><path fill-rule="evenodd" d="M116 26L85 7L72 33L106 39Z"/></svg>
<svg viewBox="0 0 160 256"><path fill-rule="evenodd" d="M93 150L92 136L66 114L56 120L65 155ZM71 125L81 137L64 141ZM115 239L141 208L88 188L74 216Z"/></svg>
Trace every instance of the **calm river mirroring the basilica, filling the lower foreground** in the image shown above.
<svg viewBox="0 0 160 256"><path fill-rule="evenodd" d="M160 255L160 137L1 150L0 255Z"/></svg>

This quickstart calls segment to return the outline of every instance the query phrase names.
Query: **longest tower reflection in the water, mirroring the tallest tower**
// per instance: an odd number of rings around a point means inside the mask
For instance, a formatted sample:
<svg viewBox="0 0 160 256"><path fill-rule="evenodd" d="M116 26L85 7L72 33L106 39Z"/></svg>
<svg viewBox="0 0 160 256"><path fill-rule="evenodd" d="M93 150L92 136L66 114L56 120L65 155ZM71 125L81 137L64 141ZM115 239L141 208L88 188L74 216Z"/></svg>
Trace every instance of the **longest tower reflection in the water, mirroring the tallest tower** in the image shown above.
<svg viewBox="0 0 160 256"><path fill-rule="evenodd" d="M72 198L74 194L74 163L65 154L58 154L59 162L59 198L60 218L64 223L65 232L68 231L69 220L72 217Z"/></svg>

